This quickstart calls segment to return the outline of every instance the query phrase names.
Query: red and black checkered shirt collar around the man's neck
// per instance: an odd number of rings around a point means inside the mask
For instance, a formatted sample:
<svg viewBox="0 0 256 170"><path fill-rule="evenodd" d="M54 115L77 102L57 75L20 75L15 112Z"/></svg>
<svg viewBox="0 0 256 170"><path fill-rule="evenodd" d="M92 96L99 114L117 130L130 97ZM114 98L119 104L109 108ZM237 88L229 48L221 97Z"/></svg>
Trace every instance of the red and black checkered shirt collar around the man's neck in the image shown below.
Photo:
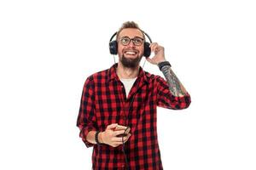
<svg viewBox="0 0 256 170"><path fill-rule="evenodd" d="M119 80L119 77L117 76L116 73L116 68L117 68L118 64L114 64L110 67L110 69L108 70L108 82L111 82L113 80ZM137 76L137 78L142 78L143 82L149 82L149 77L147 76L147 74L145 73L145 71L143 71L143 68L140 66L139 69L139 74Z"/></svg>

